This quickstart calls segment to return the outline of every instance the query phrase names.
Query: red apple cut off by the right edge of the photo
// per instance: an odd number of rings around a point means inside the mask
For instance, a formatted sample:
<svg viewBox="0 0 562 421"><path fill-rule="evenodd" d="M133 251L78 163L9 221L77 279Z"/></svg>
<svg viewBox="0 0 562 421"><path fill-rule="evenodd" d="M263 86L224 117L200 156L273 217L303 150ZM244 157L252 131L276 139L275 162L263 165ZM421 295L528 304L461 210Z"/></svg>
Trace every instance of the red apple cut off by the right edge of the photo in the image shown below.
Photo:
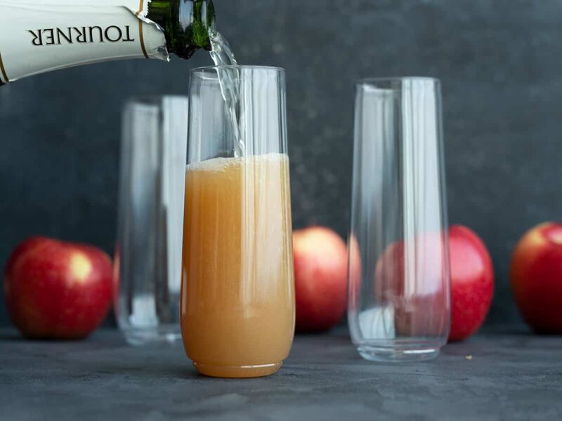
<svg viewBox="0 0 562 421"><path fill-rule="evenodd" d="M523 319L537 332L562 333L562 224L530 229L515 246L511 289Z"/></svg>

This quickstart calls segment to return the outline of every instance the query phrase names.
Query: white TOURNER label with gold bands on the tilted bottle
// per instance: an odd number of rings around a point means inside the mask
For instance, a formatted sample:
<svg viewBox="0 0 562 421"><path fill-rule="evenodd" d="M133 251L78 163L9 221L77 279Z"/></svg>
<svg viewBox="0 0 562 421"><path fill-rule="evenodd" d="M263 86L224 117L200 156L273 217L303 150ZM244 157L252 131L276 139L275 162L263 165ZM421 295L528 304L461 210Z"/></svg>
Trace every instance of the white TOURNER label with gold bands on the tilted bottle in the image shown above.
<svg viewBox="0 0 562 421"><path fill-rule="evenodd" d="M168 60L150 0L0 0L0 85L120 58Z"/></svg>

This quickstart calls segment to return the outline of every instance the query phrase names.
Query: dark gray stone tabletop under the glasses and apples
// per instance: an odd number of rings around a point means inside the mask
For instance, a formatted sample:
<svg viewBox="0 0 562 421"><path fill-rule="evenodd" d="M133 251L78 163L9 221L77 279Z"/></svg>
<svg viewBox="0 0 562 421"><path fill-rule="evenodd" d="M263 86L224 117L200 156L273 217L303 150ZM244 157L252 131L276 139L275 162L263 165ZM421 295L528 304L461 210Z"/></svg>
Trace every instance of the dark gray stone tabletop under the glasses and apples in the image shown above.
<svg viewBox="0 0 562 421"><path fill-rule="evenodd" d="M478 335L435 361L362 361L346 332L296 336L275 375L197 375L183 347L0 330L1 420L561 420L562 337Z"/></svg>

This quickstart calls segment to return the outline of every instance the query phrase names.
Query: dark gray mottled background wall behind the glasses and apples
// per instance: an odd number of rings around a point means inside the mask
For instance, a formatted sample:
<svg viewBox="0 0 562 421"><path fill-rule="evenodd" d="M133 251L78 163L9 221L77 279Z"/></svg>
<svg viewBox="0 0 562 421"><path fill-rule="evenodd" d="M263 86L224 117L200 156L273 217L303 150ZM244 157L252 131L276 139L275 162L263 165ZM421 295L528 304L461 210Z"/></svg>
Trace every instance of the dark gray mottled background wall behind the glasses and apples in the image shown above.
<svg viewBox="0 0 562 421"><path fill-rule="evenodd" d="M558 0L215 0L242 64L287 69L294 226L344 235L353 81L443 81L450 222L492 253L488 323L518 322L507 268L518 237L561 218L562 2ZM186 93L211 62L133 60L0 88L0 262L46 234L112 253L119 119L131 95ZM0 323L7 323L0 305Z"/></svg>

